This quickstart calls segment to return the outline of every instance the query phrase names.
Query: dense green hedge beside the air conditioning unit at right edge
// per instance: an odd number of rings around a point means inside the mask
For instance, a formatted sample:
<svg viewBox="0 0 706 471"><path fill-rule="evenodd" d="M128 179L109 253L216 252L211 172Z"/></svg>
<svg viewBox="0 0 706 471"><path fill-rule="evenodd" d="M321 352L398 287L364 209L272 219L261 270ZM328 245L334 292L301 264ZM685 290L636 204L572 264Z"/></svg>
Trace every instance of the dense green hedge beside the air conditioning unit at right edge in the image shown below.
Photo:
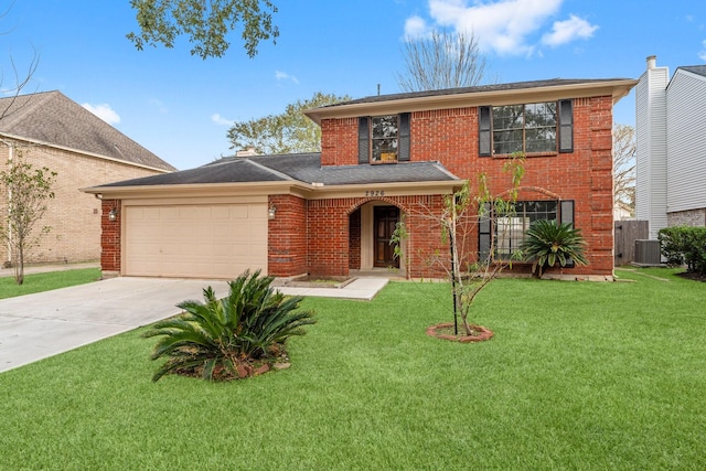
<svg viewBox="0 0 706 471"><path fill-rule="evenodd" d="M706 275L706 227L666 227L657 237L667 265Z"/></svg>

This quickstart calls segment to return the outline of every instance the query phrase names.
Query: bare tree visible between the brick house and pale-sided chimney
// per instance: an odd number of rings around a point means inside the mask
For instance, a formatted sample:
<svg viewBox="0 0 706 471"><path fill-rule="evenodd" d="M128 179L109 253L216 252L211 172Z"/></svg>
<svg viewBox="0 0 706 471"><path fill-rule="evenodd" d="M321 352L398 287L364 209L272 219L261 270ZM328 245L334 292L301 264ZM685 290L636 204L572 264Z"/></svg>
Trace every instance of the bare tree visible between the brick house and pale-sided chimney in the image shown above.
<svg viewBox="0 0 706 471"><path fill-rule="evenodd" d="M634 212L635 206L635 130L632 126L613 126L613 203Z"/></svg>

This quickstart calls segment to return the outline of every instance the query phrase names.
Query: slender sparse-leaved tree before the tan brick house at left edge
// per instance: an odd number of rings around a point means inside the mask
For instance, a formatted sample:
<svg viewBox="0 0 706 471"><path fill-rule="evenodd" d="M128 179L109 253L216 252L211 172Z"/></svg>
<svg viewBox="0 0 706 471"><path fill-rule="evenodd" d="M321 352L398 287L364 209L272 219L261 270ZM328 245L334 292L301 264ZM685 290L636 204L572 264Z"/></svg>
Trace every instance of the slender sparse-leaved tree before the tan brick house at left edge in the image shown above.
<svg viewBox="0 0 706 471"><path fill-rule="evenodd" d="M56 172L46 167L34 168L24 159L23 150L10 147L7 167L0 170L0 191L7 211L7 222L0 224L0 242L8 244L18 285L24 282L24 260L41 237L50 231L39 227L46 212L46 201L54 197L52 185ZM1 200L0 200L1 201Z"/></svg>

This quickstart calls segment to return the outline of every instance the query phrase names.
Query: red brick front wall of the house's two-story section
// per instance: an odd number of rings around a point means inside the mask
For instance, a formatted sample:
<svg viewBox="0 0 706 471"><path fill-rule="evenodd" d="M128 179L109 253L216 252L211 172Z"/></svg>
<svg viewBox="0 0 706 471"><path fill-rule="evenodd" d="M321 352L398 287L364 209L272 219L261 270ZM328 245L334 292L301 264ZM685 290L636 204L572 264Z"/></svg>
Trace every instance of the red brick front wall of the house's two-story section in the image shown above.
<svg viewBox="0 0 706 471"><path fill-rule="evenodd" d="M520 200L549 200L554 193L561 200L575 201L575 226L588 242L589 266L563 270L571 275L612 275L612 98L610 96L574 100L574 152L526 159L522 185L546 192L525 190ZM322 121L322 164L355 164L357 162L357 120L325 119ZM325 142L325 146L323 144ZM510 188L510 178L502 170L505 159L478 157L478 108L417 111L411 115L411 161L440 161L447 170L469 179L477 190L480 173L488 175L495 194ZM324 205L324 203L317 203ZM333 204L333 203L331 203ZM332 217L331 214L328 217ZM323 218L323 215L317 216ZM347 221L347 220L345 220ZM329 221L330 222L330 221ZM409 222L408 222L409 224ZM411 224L409 225L411 233ZM312 232L317 228L311 226ZM427 237L418 237L422 247ZM334 237L335 250L347 249ZM435 237L439 238L438 233ZM473 239L473 237L471 237ZM475 236L475 243L478 238ZM315 239L324 244L325 239ZM430 243L431 244L431 243ZM431 245L429 245L431 247ZM310 243L311 250L311 243ZM335 259L327 254L325 260ZM313 265L312 265L313 264ZM310 254L310 266L318 268ZM323 269L323 265L321 266ZM516 269L524 269L518 266ZM555 271L561 271L556 269Z"/></svg>

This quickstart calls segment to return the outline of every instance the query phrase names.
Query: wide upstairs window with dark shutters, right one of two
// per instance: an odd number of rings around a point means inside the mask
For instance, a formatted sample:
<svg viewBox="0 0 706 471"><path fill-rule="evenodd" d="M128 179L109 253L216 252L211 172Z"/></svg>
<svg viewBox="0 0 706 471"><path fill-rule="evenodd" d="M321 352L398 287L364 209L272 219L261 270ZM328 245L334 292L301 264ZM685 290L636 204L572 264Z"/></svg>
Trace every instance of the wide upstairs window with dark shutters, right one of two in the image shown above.
<svg viewBox="0 0 706 471"><path fill-rule="evenodd" d="M479 154L553 154L574 150L571 100L479 108Z"/></svg>

